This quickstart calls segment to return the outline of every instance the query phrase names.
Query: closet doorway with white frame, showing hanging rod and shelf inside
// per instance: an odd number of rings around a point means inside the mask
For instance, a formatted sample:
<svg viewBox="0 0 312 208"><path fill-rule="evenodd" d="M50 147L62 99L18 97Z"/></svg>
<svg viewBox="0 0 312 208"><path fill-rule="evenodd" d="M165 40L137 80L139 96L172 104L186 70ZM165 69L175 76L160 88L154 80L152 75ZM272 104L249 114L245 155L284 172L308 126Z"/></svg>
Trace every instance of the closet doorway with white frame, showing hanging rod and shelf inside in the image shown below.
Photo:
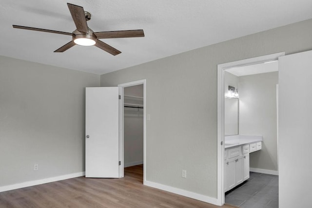
<svg viewBox="0 0 312 208"><path fill-rule="evenodd" d="M118 85L120 95L120 161L122 177L124 168L143 166L145 181L145 80Z"/></svg>

